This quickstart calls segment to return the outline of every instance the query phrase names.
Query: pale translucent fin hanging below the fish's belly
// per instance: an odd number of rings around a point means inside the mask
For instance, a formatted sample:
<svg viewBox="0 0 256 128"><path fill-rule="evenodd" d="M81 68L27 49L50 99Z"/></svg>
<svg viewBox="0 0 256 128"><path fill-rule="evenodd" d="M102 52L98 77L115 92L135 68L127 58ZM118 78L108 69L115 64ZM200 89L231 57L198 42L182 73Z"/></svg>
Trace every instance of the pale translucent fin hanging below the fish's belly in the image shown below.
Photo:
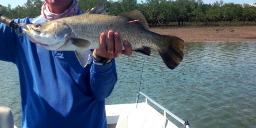
<svg viewBox="0 0 256 128"><path fill-rule="evenodd" d="M85 67L87 64L92 62L92 51L75 51L76 58L78 59L80 65Z"/></svg>

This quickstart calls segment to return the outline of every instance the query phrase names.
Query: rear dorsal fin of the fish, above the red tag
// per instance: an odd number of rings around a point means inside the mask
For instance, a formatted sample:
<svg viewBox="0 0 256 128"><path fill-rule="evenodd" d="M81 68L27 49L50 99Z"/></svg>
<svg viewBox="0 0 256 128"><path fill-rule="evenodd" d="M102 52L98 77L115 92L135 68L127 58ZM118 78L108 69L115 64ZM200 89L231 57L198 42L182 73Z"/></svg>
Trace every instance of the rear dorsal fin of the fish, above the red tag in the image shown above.
<svg viewBox="0 0 256 128"><path fill-rule="evenodd" d="M139 20L138 22L143 26L143 28L145 28L146 30L149 30L148 22L147 22L146 18L138 10L132 10L132 11L122 14L120 16L130 18L131 20Z"/></svg>

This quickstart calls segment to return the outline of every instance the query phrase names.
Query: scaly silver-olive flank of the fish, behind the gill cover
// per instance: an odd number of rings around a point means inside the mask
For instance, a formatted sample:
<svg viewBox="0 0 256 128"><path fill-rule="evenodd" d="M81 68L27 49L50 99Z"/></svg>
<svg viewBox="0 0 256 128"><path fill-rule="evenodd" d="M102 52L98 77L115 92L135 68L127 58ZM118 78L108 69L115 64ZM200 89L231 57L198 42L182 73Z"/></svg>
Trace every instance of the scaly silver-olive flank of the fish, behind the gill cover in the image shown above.
<svg viewBox="0 0 256 128"><path fill-rule="evenodd" d="M74 16L65 20L66 24L72 29L75 38L83 38L92 42L93 45L89 49L98 48L99 35L102 32L107 33L109 30L118 32L122 37L122 41L128 40L133 44L133 49L141 48L142 46L158 49L157 44L154 42L163 40L164 38L161 35L145 30L138 22L128 23L129 21L130 19L122 16L99 14L83 14L82 16Z"/></svg>

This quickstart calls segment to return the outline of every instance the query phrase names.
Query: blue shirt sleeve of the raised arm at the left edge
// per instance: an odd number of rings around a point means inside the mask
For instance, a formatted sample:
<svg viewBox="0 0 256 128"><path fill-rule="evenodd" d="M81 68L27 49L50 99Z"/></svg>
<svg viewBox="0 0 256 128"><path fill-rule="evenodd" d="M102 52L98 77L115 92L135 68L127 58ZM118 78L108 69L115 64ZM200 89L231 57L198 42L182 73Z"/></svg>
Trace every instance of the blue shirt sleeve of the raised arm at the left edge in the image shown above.
<svg viewBox="0 0 256 128"><path fill-rule="evenodd" d="M14 22L29 22L28 18L25 19L15 19ZM19 28L21 32L21 28ZM16 53L18 51L18 46L20 45L20 38L14 28L6 26L0 23L0 60L13 62L16 60Z"/></svg>

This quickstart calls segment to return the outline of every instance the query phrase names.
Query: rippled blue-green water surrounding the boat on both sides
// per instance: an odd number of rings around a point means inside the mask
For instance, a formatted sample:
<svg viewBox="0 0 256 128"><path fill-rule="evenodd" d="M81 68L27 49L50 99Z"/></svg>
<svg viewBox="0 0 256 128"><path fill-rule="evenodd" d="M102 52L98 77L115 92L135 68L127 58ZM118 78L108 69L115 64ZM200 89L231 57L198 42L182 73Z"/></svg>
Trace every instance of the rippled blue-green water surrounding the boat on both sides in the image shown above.
<svg viewBox="0 0 256 128"><path fill-rule="evenodd" d="M156 51L146 57L121 56L116 62L118 83L106 104L134 103L141 82L142 92L192 128L256 126L255 42L186 43L184 60L175 70L166 68ZM0 106L12 108L17 126L19 90L16 66L0 61Z"/></svg>

